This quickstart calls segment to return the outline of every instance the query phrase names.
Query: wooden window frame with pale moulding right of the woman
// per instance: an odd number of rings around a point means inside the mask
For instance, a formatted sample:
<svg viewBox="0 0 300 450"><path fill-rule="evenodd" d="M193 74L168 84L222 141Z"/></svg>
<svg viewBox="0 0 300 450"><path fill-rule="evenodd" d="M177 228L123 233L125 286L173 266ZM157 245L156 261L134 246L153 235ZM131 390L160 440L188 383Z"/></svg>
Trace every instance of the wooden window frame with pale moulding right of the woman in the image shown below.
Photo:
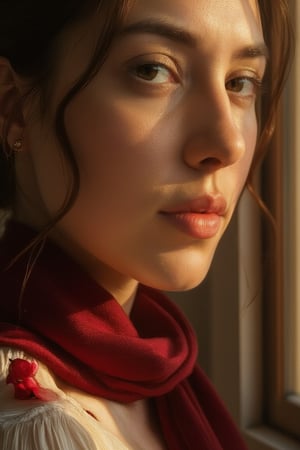
<svg viewBox="0 0 300 450"><path fill-rule="evenodd" d="M296 7L294 0L290 0L290 6ZM293 16L297 30L299 4ZM288 166L286 157L295 157L300 144L296 123L300 117L299 83L295 104L299 79L300 45L277 114L276 132L258 176L262 198L276 227L265 218L261 228L262 213L249 194L243 195L209 275L214 355L210 376L251 450L300 450L300 403L298 397L295 401L295 396L286 392L284 347L285 305L287 296L295 293L294 287L287 286L285 269L290 257L285 236L293 225L287 227L284 218L291 207L289 202L295 203L289 198L285 177L296 164ZM293 262L290 264L295 270ZM226 316L235 324L231 332L224 321ZM233 367L226 365L233 359Z"/></svg>

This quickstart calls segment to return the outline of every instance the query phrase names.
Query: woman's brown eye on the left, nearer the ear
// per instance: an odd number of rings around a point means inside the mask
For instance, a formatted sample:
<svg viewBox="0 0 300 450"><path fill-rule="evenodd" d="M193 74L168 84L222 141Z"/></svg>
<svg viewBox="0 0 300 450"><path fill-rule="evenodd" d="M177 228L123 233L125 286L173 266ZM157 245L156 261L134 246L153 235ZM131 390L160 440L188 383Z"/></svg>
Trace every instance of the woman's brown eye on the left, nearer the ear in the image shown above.
<svg viewBox="0 0 300 450"><path fill-rule="evenodd" d="M165 64L157 62L139 64L132 69L132 73L137 78L155 84L172 83L175 81L172 70Z"/></svg>

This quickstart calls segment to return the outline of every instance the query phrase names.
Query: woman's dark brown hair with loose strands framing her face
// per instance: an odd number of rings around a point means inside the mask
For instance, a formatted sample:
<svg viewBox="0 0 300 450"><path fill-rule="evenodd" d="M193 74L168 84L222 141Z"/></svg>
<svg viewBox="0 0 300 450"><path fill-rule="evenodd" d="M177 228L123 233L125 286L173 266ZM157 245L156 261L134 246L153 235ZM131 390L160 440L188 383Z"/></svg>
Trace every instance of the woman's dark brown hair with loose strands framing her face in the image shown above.
<svg viewBox="0 0 300 450"><path fill-rule="evenodd" d="M292 48L292 33L288 17L287 0L257 0L260 9L265 40L270 49L270 64L266 80L268 90L261 100L260 136L248 178L252 188L253 170L264 155L274 129L276 106L286 78ZM96 51L81 78L69 90L58 105L55 131L64 156L72 168L73 183L64 205L52 225L72 206L78 194L80 177L72 148L64 125L64 113L72 98L86 86L100 69L108 54L113 37L118 32L128 10L129 0L0 0L0 55L6 57L15 71L31 80L41 104L45 86L51 73L51 54L59 33L70 23L97 10L101 24ZM276 36L276 49L273 38ZM278 45L279 43L279 45ZM44 98L44 104L46 99ZM16 105L17 106L17 105ZM11 112L11 117L14 111ZM9 128L9 123L6 125ZM13 152L7 151L6 135L0 145L0 209L13 206L15 171Z"/></svg>

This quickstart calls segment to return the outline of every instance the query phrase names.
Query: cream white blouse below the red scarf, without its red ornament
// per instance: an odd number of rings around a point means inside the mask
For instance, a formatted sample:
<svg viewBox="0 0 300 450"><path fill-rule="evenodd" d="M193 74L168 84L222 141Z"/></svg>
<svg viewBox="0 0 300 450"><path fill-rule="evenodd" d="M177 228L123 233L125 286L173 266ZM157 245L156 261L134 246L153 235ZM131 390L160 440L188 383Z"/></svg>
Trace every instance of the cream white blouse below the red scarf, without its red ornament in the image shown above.
<svg viewBox="0 0 300 450"><path fill-rule="evenodd" d="M0 348L0 450L130 450L59 389L41 363L35 378L58 399L15 399L14 387L6 384L6 377L10 359L16 358L32 360L22 351Z"/></svg>

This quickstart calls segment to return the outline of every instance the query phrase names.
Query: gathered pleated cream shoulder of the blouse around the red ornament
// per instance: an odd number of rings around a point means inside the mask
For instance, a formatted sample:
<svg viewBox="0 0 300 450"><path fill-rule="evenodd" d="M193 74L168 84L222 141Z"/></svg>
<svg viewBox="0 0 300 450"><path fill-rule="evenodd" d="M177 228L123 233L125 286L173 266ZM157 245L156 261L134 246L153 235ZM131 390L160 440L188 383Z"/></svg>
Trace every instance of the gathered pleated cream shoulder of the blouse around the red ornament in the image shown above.
<svg viewBox="0 0 300 450"><path fill-rule="evenodd" d="M78 421L67 413L64 395L57 400L44 402L37 399L14 398L13 386L6 384L11 360L30 356L20 350L0 348L0 448L79 450L96 448L89 434ZM43 370L41 371L43 372ZM41 373L47 388L55 383L47 373Z"/></svg>

